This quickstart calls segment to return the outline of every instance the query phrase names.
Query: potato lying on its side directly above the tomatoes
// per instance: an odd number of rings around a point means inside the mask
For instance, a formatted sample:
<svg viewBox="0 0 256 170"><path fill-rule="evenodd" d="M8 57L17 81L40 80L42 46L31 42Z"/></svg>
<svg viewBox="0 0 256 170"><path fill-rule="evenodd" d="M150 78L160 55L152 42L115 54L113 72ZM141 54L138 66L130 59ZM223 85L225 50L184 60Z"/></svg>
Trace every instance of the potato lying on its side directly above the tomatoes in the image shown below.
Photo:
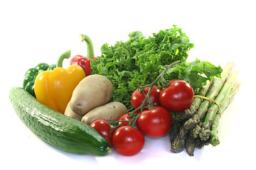
<svg viewBox="0 0 256 170"><path fill-rule="evenodd" d="M127 107L124 106L123 103L113 101L105 104L104 106L100 106L92 109L92 111L88 112L86 115L82 116L82 123L87 123L90 125L93 120L98 118L105 119L107 121L110 120L118 120L121 115L127 113Z"/></svg>

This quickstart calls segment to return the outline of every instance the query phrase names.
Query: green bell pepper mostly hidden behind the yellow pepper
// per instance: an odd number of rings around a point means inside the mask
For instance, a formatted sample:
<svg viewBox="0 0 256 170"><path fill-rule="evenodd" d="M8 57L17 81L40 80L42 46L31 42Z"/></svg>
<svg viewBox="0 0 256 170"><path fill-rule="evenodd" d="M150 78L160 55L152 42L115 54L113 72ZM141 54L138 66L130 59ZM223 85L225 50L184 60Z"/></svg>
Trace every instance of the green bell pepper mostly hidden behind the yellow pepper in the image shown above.
<svg viewBox="0 0 256 170"><path fill-rule="evenodd" d="M46 71L46 70L53 70L56 68L56 64L46 64L44 62L38 64L36 67L28 69L23 79L23 89L28 91L29 94L36 98L36 94L34 92L34 84L35 79L38 73Z"/></svg>

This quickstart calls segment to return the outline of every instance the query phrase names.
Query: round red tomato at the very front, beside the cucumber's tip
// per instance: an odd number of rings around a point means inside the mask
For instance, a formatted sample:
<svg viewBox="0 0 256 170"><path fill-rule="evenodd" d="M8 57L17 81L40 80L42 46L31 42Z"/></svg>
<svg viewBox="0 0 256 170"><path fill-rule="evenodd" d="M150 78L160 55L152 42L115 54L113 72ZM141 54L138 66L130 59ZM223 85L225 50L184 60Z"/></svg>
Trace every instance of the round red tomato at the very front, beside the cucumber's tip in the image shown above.
<svg viewBox="0 0 256 170"><path fill-rule="evenodd" d="M144 147L144 135L132 126L117 128L112 137L114 150L123 156L133 156Z"/></svg>

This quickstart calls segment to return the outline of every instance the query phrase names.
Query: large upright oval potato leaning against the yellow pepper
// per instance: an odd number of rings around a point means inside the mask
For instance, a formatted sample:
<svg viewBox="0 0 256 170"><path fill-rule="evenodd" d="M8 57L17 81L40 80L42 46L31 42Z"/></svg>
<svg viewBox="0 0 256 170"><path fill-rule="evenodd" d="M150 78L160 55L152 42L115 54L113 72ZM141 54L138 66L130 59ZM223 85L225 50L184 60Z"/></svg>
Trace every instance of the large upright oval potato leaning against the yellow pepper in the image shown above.
<svg viewBox="0 0 256 170"><path fill-rule="evenodd" d="M70 108L78 115L85 115L93 108L105 105L113 95L113 84L107 77L92 74L80 81L70 99Z"/></svg>

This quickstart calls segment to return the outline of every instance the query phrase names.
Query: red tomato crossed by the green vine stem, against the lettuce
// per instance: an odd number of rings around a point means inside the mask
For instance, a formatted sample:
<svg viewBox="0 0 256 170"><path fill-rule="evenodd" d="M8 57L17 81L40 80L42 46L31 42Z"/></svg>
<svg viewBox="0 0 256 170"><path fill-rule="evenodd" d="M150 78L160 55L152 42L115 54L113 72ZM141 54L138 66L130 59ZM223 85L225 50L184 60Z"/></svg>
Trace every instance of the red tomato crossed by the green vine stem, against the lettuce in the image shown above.
<svg viewBox="0 0 256 170"><path fill-rule="evenodd" d="M144 89L144 93L147 94L149 92L149 87L147 86ZM139 106L142 105L145 95L144 93L139 92L139 89L136 89L131 98L132 107L134 109L139 108ZM161 90L158 89L158 86L154 86L151 93L149 94L149 100L152 101L152 103L156 103L156 106L160 105L159 96L160 96ZM149 102L146 102L146 104L149 104ZM146 108L145 108L146 109Z"/></svg>

